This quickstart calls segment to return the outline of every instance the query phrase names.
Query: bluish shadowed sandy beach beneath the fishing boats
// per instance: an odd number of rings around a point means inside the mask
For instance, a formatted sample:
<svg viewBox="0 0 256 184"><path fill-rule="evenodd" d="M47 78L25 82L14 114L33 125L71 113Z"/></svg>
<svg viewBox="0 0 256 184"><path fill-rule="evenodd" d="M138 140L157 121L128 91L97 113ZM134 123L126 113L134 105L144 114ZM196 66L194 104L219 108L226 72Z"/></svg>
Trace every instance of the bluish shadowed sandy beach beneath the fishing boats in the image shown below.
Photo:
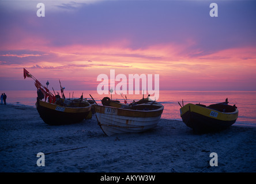
<svg viewBox="0 0 256 184"><path fill-rule="evenodd" d="M194 135L182 121L161 119L148 132L106 136L96 117L50 126L36 108L0 105L0 172L249 173L256 171L256 128L233 125ZM45 166L37 166L37 153ZM218 166L210 166L210 154Z"/></svg>

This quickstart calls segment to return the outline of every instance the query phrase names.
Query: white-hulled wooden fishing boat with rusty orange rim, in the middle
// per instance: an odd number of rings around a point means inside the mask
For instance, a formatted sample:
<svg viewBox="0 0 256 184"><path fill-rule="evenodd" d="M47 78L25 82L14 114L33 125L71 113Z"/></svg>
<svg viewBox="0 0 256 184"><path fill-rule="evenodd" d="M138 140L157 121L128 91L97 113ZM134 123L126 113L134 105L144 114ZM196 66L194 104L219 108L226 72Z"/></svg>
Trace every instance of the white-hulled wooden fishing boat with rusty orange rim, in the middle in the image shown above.
<svg viewBox="0 0 256 184"><path fill-rule="evenodd" d="M115 108L95 106L98 125L108 135L148 131L157 126L164 106L156 101Z"/></svg>

